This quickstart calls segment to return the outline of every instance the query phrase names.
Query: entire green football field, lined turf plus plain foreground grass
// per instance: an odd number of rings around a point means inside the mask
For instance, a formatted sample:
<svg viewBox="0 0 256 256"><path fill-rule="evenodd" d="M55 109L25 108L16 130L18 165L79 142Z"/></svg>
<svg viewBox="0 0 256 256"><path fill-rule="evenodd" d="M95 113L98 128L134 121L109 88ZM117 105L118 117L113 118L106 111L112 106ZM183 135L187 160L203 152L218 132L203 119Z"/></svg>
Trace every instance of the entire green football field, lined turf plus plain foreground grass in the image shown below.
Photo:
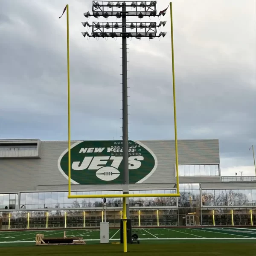
<svg viewBox="0 0 256 256"><path fill-rule="evenodd" d="M100 244L100 231L68 229L66 236L81 236L85 245L35 246L35 236L63 237L64 230L2 231L0 252L5 256L41 255L123 255L120 230L110 229L110 244ZM133 229L140 244L128 244L130 255L255 256L256 229L253 228L138 228Z"/></svg>

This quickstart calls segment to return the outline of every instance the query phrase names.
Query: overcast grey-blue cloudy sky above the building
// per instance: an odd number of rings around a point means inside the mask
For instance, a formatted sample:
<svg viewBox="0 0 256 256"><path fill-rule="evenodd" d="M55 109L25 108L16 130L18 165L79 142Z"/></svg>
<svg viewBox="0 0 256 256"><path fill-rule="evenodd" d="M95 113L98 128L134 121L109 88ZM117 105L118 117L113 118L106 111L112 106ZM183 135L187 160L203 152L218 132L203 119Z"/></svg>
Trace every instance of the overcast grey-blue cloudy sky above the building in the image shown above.
<svg viewBox="0 0 256 256"><path fill-rule="evenodd" d="M58 19L65 4L0 0L2 139L67 140L66 16ZM168 4L158 1L157 10ZM91 5L69 3L71 137L119 139L121 39L81 35ZM174 139L169 17L161 17L168 34L160 41L128 41L130 139ZM173 22L178 139L218 138L222 175L255 175L256 1L174 0Z"/></svg>

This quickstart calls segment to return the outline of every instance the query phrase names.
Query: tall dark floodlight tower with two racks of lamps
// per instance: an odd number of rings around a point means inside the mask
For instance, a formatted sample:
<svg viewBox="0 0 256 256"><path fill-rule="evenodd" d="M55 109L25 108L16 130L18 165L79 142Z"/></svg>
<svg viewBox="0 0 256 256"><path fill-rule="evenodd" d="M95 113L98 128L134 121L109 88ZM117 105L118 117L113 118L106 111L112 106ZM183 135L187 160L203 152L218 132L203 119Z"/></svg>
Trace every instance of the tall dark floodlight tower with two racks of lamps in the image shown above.
<svg viewBox="0 0 256 256"><path fill-rule="evenodd" d="M123 194L129 193L129 145L128 145L128 93L127 93L127 38L160 38L165 37L166 32L157 34L157 29L166 25L166 21L156 22L126 22L127 17L160 17L166 14L168 7L157 14L157 1L93 1L92 14L84 13L89 17L116 17L122 19L122 22L82 22L84 27L91 28L92 32L82 32L84 37L88 38L122 38L122 157L123 157ZM125 198L124 198L125 199ZM126 217L129 219L128 200L126 204Z"/></svg>

